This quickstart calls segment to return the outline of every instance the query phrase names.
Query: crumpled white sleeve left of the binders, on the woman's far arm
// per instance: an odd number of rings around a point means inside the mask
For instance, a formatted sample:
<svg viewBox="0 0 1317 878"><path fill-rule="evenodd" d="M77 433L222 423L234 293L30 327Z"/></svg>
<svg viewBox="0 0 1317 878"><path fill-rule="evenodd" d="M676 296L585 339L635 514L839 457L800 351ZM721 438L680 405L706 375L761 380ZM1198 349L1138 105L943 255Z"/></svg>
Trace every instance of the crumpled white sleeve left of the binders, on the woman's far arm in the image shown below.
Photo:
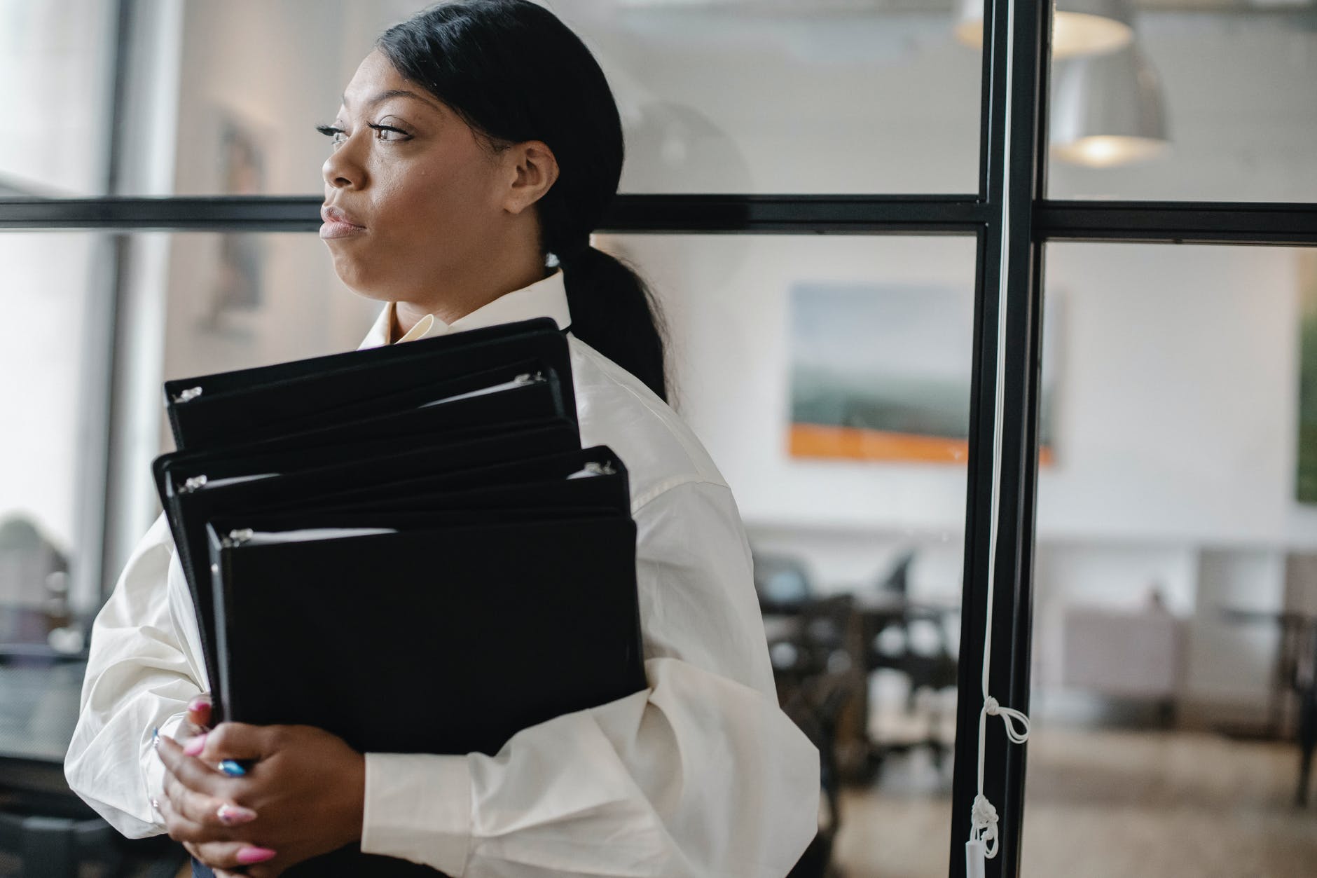
<svg viewBox="0 0 1317 878"><path fill-rule="evenodd" d="M161 515L92 624L78 725L65 757L70 788L130 838L165 832L151 807L165 779L151 732L173 736L187 703L207 688L183 583Z"/></svg>

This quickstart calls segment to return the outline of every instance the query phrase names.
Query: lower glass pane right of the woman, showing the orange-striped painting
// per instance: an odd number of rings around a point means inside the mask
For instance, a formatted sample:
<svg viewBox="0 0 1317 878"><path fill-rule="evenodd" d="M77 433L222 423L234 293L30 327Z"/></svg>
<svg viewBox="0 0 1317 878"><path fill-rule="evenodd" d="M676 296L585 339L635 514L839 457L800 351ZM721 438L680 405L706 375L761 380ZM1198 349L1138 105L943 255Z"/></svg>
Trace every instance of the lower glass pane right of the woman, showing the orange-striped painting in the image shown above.
<svg viewBox="0 0 1317 878"><path fill-rule="evenodd" d="M781 700L835 725L838 869L946 875L973 240L599 240L665 308L678 411L749 534Z"/></svg>

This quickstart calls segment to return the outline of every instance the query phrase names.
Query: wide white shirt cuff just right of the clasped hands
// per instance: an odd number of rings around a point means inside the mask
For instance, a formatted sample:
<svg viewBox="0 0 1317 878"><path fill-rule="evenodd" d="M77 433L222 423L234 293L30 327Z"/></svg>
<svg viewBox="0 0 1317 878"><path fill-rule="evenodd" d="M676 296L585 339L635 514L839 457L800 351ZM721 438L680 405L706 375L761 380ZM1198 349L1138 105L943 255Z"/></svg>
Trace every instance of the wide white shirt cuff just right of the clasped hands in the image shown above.
<svg viewBox="0 0 1317 878"><path fill-rule="evenodd" d="M464 755L367 753L361 852L461 878L471 840L471 771Z"/></svg>

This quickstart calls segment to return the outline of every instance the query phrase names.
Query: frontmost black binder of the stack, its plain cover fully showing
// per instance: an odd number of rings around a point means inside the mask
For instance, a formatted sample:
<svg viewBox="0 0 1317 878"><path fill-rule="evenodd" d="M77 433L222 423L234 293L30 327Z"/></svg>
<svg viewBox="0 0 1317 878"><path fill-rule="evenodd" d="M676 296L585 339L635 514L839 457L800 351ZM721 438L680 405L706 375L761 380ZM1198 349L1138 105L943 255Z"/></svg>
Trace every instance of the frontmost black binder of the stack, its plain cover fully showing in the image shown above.
<svg viewBox="0 0 1317 878"><path fill-rule="evenodd" d="M220 687L233 718L316 725L363 751L494 754L520 729L647 686L630 517L429 518L367 515L352 526L370 535L315 542L281 541L288 519L211 523L228 657ZM371 600L360 600L363 588ZM325 630L338 633L332 651ZM262 686L273 668L277 689ZM419 699L417 679L444 697ZM349 845L284 874L439 873Z"/></svg>

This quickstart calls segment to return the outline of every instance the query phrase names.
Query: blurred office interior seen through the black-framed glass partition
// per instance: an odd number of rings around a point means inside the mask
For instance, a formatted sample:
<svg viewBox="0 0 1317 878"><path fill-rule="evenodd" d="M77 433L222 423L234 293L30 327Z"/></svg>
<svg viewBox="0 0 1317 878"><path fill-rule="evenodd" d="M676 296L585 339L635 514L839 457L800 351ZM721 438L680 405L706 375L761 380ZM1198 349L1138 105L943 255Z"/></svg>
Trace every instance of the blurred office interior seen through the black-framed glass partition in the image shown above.
<svg viewBox="0 0 1317 878"><path fill-rule="evenodd" d="M977 187L965 4L548 5L610 76L624 192ZM319 195L313 125L419 4L130 7L120 41L111 0L0 0L0 198ZM1050 198L1317 202L1317 4L1069 8L1114 24L1055 61ZM801 874L946 874L975 241L597 245L660 295L824 755ZM1023 871L1310 875L1317 250L1054 244L1046 266ZM46 856L5 803L62 758L86 631L158 514L161 382L352 349L375 314L313 233L0 233L0 875Z"/></svg>

